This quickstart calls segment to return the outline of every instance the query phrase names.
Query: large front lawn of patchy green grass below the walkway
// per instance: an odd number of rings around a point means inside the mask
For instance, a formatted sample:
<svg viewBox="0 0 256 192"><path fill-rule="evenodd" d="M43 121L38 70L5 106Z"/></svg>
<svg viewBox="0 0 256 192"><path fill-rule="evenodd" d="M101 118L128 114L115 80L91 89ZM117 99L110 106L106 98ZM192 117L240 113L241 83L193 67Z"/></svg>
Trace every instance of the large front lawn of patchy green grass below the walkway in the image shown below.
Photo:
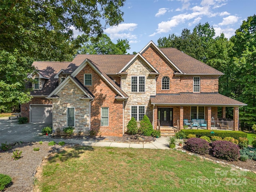
<svg viewBox="0 0 256 192"><path fill-rule="evenodd" d="M255 191L256 174L175 150L75 147L52 156L37 186L44 192Z"/></svg>

